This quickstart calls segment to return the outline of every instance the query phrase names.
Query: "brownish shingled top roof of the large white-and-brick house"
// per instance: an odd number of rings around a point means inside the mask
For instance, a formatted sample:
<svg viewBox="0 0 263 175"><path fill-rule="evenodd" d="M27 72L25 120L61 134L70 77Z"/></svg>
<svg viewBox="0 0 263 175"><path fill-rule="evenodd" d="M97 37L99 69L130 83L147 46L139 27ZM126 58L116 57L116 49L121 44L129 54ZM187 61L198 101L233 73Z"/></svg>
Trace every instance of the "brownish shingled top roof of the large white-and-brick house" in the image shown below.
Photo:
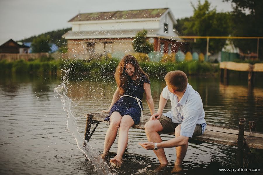
<svg viewBox="0 0 263 175"><path fill-rule="evenodd" d="M93 20L120 20L160 17L168 8L145 9L145 10L126 10L115 12L82 13L73 17L68 22L73 21L93 21Z"/></svg>

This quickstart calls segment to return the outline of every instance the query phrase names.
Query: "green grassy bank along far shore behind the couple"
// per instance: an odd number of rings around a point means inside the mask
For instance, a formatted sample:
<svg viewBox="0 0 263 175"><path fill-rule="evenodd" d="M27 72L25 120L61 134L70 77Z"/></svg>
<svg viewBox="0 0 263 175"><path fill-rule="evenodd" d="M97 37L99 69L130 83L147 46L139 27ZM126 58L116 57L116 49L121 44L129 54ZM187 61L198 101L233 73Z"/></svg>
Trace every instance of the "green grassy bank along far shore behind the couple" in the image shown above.
<svg viewBox="0 0 263 175"><path fill-rule="evenodd" d="M68 71L69 79L78 80L83 78L113 77L119 63L117 59L94 60L34 60L34 61L0 61L0 72L3 74L65 74ZM219 71L218 66L207 62L184 61L184 62L140 62L142 69L151 77L162 78L172 70L181 70L188 75L214 74Z"/></svg>

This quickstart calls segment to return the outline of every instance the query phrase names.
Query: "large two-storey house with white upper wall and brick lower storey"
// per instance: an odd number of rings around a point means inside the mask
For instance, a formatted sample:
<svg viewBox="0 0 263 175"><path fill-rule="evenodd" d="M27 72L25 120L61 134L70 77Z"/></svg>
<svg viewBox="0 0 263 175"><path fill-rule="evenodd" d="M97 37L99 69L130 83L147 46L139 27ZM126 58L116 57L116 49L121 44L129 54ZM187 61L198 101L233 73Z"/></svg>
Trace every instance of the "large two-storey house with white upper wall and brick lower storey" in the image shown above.
<svg viewBox="0 0 263 175"><path fill-rule="evenodd" d="M132 41L143 29L148 31L147 39L154 44L155 51L176 53L185 47L178 38L174 28L177 22L169 8L83 13L68 22L72 30L62 37L68 41L69 56L80 59L134 52Z"/></svg>

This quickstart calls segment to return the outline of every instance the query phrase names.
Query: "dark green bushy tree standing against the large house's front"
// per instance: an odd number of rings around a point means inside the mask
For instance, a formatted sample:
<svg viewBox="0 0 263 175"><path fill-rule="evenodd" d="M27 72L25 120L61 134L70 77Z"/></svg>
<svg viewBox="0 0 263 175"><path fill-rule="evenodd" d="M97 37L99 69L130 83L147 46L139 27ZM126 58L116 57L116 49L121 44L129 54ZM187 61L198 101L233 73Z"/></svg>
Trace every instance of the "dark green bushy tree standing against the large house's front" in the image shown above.
<svg viewBox="0 0 263 175"><path fill-rule="evenodd" d="M147 31L139 31L134 40L132 41L132 46L135 52L139 53L150 53L153 52L153 44L146 41Z"/></svg>

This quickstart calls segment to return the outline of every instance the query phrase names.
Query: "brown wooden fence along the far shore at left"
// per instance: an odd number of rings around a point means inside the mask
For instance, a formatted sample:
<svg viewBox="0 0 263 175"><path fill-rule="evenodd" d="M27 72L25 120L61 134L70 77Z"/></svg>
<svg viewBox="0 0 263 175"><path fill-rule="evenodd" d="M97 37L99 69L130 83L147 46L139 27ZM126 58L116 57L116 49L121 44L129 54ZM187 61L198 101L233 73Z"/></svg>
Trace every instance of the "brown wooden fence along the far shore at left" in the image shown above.
<svg viewBox="0 0 263 175"><path fill-rule="evenodd" d="M49 57L49 53L0 53L0 61L34 60L41 57Z"/></svg>

